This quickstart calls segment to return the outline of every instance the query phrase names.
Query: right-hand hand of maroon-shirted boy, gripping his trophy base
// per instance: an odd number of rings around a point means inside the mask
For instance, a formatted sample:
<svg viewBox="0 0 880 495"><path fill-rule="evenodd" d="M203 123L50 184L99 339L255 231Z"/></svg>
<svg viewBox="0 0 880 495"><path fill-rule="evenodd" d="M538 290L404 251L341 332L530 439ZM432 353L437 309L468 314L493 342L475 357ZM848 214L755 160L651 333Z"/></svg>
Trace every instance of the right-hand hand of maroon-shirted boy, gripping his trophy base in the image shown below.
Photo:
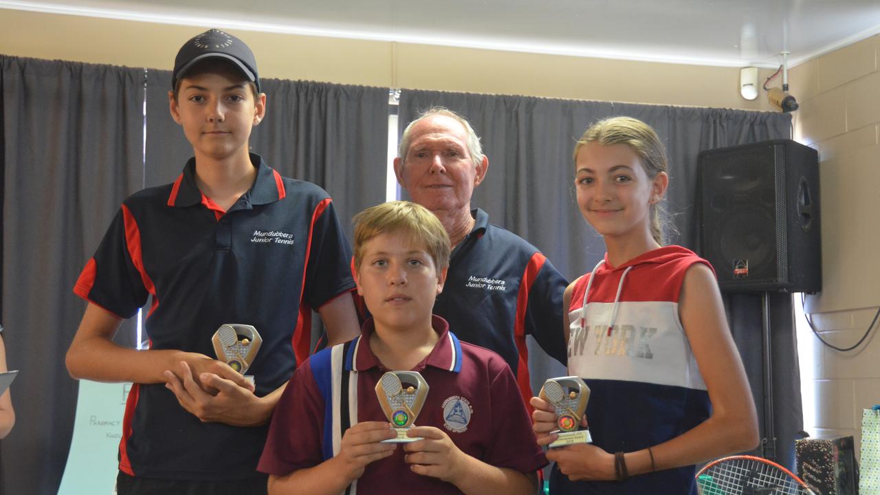
<svg viewBox="0 0 880 495"><path fill-rule="evenodd" d="M404 461L414 473L440 478L451 484L458 484L466 474L469 456L459 450L443 430L434 426L414 426L407 436L423 438L404 447L407 451Z"/></svg>

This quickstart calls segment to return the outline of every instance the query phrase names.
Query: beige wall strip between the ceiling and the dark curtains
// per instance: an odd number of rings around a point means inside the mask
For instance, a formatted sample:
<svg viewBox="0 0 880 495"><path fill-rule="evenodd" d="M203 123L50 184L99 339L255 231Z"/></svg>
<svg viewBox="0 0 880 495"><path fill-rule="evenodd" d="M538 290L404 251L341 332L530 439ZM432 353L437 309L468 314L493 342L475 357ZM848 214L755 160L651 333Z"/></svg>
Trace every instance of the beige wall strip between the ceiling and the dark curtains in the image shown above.
<svg viewBox="0 0 880 495"><path fill-rule="evenodd" d="M0 9L0 54L171 69L183 41L206 27ZM766 98L739 96L738 68L229 31L264 78L771 110Z"/></svg>

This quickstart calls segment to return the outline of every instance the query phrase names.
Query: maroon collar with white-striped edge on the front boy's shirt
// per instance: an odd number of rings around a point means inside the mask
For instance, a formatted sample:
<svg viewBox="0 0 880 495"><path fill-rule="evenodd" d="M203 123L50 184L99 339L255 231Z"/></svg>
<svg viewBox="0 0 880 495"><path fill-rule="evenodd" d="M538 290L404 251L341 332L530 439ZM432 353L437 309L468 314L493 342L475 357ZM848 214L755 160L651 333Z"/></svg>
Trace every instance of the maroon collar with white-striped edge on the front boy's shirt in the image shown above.
<svg viewBox="0 0 880 495"><path fill-rule="evenodd" d="M422 371L426 366L433 366L458 373L461 371L461 343L458 342L458 337L449 331L449 323L436 314L431 316L431 327L434 328L439 338L434 344L434 349L412 371ZM372 318L363 322L361 335L352 341L345 356L347 371L363 372L375 367L385 369L385 366L370 349L370 336L375 331L376 325Z"/></svg>

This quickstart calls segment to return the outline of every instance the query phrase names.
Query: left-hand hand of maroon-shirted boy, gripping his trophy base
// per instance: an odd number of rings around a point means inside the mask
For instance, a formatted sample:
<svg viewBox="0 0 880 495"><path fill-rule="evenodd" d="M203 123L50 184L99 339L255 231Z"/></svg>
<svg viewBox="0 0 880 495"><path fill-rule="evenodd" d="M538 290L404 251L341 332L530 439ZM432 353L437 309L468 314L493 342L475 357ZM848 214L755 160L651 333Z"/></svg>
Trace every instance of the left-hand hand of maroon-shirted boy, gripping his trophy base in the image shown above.
<svg viewBox="0 0 880 495"><path fill-rule="evenodd" d="M385 459L394 453L397 444L379 443L381 440L393 439L397 434L391 424L384 421L364 421L348 428L342 435L339 454L332 459L339 464L342 474L349 481L363 476L367 464Z"/></svg>

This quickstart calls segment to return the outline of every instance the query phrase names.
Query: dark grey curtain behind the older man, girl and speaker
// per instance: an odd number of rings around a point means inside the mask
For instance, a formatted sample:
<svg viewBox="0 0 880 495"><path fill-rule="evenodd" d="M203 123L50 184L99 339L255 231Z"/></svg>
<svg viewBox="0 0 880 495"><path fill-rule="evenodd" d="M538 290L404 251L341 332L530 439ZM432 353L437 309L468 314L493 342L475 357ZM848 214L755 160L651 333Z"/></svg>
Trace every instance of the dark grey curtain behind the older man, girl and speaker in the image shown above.
<svg viewBox="0 0 880 495"><path fill-rule="evenodd" d="M678 230L668 241L698 252L697 154L791 136L790 115L778 113L417 90L400 94L399 132L419 112L434 105L465 115L482 137L489 159L488 177L474 191L473 206L487 211L496 225L539 247L569 279L590 270L605 254L605 244L583 221L575 203L571 153L590 123L628 115L657 130L669 153L668 208ZM788 460L793 460L794 433L803 427L795 331L790 298L779 294L771 301L774 425L781 448L778 458L791 465ZM725 306L763 423L760 298L725 295ZM538 389L547 377L564 373L564 368L546 358L538 346L530 345L530 350L533 388Z"/></svg>

